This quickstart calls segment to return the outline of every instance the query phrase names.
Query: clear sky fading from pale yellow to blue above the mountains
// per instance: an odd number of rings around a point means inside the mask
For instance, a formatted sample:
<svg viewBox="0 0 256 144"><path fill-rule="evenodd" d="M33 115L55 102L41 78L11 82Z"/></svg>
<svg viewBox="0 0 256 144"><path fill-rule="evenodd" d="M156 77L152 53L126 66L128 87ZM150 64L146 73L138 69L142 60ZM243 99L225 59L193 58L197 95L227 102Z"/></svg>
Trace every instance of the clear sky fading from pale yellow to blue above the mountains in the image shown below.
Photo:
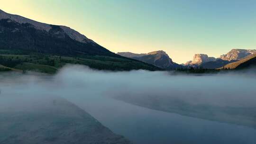
<svg viewBox="0 0 256 144"><path fill-rule="evenodd" d="M71 27L115 53L164 50L176 63L256 49L256 0L0 0L0 9Z"/></svg>

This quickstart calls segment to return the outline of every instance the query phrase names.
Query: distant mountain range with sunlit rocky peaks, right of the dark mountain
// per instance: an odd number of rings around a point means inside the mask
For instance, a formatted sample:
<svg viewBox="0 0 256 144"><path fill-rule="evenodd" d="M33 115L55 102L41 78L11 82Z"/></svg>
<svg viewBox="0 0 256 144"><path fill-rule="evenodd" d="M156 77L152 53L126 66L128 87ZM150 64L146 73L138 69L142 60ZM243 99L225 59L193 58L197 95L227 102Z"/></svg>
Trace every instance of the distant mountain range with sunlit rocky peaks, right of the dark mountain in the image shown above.
<svg viewBox="0 0 256 144"><path fill-rule="evenodd" d="M223 66L233 69L238 66L238 63L242 63L248 60L250 57L254 57L256 50L245 49L232 49L227 54L220 55L219 58L209 57L207 54L195 54L193 60L184 64L177 64L164 51L154 51L147 54L135 54L130 52L119 52L121 56L136 59L145 63L153 64L159 68L165 70L172 70L177 68L204 68L204 69L218 69ZM237 62L235 64L235 62ZM230 63L230 64L229 64ZM231 66L232 65L232 66Z"/></svg>

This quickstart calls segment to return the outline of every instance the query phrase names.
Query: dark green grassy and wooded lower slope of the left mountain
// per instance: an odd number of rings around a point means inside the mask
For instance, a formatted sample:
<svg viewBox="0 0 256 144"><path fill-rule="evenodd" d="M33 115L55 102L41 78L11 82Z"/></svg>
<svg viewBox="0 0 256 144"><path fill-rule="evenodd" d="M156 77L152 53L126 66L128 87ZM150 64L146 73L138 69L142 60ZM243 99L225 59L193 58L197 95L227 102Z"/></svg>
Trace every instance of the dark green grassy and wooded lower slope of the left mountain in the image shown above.
<svg viewBox="0 0 256 144"><path fill-rule="evenodd" d="M68 57L49 54L15 54L0 50L0 64L13 70L55 73L67 63L87 65L93 69L111 71L129 71L145 69L150 71L161 70L151 64L143 63L124 57L111 56L83 56ZM9 63L10 62L10 63Z"/></svg>

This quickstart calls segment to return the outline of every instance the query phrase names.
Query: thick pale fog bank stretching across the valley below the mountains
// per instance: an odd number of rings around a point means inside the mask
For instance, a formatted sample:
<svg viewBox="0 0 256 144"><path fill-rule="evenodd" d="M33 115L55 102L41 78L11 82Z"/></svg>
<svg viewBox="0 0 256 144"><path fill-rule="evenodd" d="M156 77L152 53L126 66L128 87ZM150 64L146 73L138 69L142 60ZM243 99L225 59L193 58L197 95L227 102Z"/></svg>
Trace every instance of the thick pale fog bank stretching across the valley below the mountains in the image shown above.
<svg viewBox="0 0 256 144"><path fill-rule="evenodd" d="M87 97L154 96L173 97L193 104L256 106L256 74L224 73L177 75L172 72L105 72L80 65L64 67L54 76L1 73L1 99L14 94L62 96L81 100ZM82 97L80 97L82 96ZM83 99L82 99L83 98Z"/></svg>

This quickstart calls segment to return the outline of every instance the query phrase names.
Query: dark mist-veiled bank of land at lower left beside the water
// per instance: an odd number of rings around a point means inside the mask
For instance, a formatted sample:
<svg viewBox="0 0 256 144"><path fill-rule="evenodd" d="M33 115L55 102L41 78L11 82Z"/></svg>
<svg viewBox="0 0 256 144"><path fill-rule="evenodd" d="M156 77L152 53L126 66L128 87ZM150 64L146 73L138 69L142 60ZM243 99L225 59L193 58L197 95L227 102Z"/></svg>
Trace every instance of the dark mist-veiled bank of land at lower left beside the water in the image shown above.
<svg viewBox="0 0 256 144"><path fill-rule="evenodd" d="M0 115L0 144L131 144L62 98L2 99Z"/></svg>

